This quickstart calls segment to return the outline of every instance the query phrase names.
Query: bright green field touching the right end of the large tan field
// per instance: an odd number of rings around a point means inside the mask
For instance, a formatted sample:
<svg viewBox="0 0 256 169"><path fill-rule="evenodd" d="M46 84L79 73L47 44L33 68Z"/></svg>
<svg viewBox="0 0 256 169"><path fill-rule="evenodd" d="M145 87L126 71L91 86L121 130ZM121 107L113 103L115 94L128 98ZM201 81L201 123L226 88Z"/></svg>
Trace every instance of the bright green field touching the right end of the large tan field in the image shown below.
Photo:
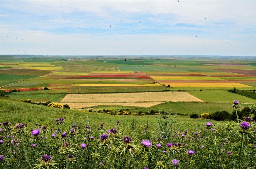
<svg viewBox="0 0 256 169"><path fill-rule="evenodd" d="M193 96L208 102L230 102L238 100L240 103L255 103L254 99L240 96L235 93L227 91L214 91L214 92L188 92Z"/></svg>

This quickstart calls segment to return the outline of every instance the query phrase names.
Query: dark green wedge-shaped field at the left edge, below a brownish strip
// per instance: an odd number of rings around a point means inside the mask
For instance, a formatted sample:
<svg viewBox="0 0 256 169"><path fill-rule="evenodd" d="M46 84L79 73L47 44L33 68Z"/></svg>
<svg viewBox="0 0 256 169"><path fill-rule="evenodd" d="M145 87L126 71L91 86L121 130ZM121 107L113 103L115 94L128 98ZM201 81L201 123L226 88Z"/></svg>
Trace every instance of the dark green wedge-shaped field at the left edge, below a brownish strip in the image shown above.
<svg viewBox="0 0 256 169"><path fill-rule="evenodd" d="M8 85L20 80L25 80L28 78L37 77L32 75L6 75L6 74L0 74L0 86Z"/></svg>

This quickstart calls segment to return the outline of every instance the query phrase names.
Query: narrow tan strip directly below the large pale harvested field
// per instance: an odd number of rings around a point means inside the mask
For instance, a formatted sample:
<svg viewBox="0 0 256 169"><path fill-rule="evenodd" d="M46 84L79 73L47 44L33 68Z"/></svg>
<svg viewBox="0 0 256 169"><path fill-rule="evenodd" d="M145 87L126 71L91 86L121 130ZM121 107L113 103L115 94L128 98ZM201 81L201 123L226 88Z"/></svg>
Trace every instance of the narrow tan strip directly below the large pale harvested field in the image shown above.
<svg viewBox="0 0 256 169"><path fill-rule="evenodd" d="M134 107L151 107L164 102L145 102L145 103L57 103L62 106L68 104L70 108L82 108L82 107L92 107L92 106L100 106L100 105L116 105L116 106L134 106Z"/></svg>

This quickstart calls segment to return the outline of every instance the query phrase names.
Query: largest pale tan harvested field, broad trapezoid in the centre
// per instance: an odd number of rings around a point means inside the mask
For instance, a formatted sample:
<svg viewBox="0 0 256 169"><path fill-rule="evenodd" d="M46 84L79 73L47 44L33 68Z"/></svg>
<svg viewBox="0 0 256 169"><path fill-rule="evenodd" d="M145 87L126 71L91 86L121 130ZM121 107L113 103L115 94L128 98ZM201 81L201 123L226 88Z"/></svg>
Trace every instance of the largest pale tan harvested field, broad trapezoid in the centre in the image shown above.
<svg viewBox="0 0 256 169"><path fill-rule="evenodd" d="M109 93L109 94L67 94L61 102L164 102L203 100L187 92L143 92L143 93Z"/></svg>

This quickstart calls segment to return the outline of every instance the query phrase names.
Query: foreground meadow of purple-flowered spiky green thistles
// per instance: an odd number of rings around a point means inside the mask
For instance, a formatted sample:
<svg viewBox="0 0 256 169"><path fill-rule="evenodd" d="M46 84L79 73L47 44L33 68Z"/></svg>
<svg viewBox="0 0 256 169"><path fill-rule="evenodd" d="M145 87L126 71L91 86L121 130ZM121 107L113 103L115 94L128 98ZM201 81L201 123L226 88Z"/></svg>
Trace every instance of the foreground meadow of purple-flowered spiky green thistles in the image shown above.
<svg viewBox="0 0 256 169"><path fill-rule="evenodd" d="M231 107L238 109L235 100ZM251 107L255 110L255 106ZM164 117L164 118L163 118ZM237 116L238 117L238 116ZM207 122L184 129L171 112L132 129L120 120L106 128L54 124L0 123L0 168L255 168L256 132L252 115L225 125ZM136 120L133 121L136 123ZM224 124L224 123L223 123ZM136 125L135 125L136 126Z"/></svg>

